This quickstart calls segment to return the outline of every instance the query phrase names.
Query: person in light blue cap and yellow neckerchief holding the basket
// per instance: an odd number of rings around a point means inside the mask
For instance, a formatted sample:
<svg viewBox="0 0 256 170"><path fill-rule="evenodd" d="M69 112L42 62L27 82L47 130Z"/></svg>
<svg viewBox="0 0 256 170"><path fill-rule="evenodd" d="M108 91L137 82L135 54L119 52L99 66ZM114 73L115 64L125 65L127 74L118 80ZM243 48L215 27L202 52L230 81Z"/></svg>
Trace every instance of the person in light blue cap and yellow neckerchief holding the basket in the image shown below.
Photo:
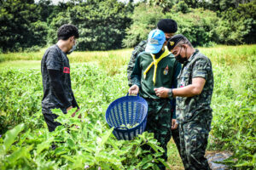
<svg viewBox="0 0 256 170"><path fill-rule="evenodd" d="M145 52L138 55L131 73L133 85L129 94L140 94L148 102L148 122L146 131L154 133L154 138L166 150L163 159L167 159L166 145L172 137L172 118L169 98L159 98L154 88L177 87L177 75L181 65L165 48L166 37L163 31L154 30L148 35ZM160 169L166 169L159 164Z"/></svg>

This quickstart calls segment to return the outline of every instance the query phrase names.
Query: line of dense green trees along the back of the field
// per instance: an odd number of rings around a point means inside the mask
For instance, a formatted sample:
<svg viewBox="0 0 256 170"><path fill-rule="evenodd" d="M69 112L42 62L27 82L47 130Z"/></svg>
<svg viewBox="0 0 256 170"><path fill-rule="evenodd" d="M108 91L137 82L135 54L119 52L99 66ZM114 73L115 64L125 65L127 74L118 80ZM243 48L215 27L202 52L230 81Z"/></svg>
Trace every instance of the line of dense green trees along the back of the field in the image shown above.
<svg viewBox="0 0 256 170"><path fill-rule="evenodd" d="M256 0L0 0L0 53L55 43L59 26L79 28L79 50L131 48L163 18L195 46L256 42Z"/></svg>

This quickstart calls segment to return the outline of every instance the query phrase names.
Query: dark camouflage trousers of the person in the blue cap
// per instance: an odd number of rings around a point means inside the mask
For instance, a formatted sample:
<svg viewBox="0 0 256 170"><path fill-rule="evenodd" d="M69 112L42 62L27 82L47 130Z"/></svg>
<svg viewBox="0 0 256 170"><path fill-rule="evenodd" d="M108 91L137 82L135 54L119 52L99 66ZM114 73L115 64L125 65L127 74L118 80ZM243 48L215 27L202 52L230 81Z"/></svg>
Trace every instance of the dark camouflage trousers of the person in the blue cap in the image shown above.
<svg viewBox="0 0 256 170"><path fill-rule="evenodd" d="M165 150L162 158L167 161L167 143L172 138L172 112L168 99L146 99L148 102L148 120L146 131L154 133L154 139L160 142L160 146ZM179 141L179 133L173 131L174 141ZM177 146L179 146L177 144ZM179 147L178 147L179 148ZM159 164L160 169L165 170L163 164Z"/></svg>

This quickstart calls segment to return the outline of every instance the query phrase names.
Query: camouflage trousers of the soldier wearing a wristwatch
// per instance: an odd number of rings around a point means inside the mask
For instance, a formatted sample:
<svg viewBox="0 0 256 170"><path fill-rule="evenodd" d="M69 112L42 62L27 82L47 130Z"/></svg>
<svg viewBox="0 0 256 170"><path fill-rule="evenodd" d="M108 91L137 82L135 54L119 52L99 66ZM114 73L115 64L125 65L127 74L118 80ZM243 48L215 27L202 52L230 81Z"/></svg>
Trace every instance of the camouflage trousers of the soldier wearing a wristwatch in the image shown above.
<svg viewBox="0 0 256 170"><path fill-rule="evenodd" d="M212 119L201 119L201 122L179 124L180 156L185 170L210 169L204 156L211 122Z"/></svg>

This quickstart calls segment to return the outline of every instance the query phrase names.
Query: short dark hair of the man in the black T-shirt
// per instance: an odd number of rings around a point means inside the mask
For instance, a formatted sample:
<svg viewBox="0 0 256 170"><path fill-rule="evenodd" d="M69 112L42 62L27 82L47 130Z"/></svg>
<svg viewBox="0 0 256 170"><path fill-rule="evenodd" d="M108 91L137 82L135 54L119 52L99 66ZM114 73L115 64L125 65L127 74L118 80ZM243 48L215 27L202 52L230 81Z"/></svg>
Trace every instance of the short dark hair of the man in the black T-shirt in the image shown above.
<svg viewBox="0 0 256 170"><path fill-rule="evenodd" d="M79 30L72 24L64 24L58 29L58 40L67 40L69 37L79 38Z"/></svg>

